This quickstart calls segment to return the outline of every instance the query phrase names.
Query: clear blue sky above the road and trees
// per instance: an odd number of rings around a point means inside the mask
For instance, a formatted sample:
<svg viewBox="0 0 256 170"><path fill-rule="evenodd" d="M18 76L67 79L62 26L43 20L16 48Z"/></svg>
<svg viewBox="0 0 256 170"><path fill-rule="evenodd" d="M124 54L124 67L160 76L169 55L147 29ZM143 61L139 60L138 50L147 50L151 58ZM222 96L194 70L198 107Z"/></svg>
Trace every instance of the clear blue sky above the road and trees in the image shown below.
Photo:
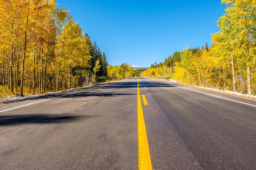
<svg viewBox="0 0 256 170"><path fill-rule="evenodd" d="M56 0L70 10L111 65L164 62L184 46L211 46L221 0Z"/></svg>

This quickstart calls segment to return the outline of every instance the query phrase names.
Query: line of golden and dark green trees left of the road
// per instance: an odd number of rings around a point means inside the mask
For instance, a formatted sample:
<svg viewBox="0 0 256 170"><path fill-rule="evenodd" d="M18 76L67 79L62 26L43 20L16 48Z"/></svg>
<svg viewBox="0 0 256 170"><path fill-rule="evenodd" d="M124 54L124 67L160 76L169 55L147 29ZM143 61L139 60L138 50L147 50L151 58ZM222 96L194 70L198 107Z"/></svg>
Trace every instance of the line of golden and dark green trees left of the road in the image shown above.
<svg viewBox="0 0 256 170"><path fill-rule="evenodd" d="M0 53L0 89L20 96L108 76L105 53L55 0L1 0Z"/></svg>

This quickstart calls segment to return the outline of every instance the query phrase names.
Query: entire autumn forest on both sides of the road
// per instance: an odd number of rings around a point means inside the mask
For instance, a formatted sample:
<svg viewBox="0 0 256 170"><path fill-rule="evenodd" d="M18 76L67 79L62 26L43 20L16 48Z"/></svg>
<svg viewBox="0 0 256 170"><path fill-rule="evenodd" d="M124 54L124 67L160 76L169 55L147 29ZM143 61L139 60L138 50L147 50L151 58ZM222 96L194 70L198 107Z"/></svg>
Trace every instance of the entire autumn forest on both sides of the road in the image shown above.
<svg viewBox="0 0 256 170"><path fill-rule="evenodd" d="M0 96L46 93L130 77L256 94L256 0L227 5L212 46L175 52L148 69L109 65L106 54L55 0L0 1Z"/></svg>

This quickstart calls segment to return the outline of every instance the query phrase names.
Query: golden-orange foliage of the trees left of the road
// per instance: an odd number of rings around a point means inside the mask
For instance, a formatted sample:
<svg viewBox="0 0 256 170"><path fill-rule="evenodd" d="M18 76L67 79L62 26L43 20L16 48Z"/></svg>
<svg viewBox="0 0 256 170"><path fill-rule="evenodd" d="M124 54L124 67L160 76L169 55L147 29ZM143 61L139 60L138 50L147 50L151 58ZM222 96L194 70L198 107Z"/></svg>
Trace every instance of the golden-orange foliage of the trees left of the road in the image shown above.
<svg viewBox="0 0 256 170"><path fill-rule="evenodd" d="M1 68L6 69L0 75L11 69L11 61L14 64L13 75L17 76L16 82L22 79L28 85L28 79L31 80L33 75L31 71L35 69L40 75L37 76L37 82L42 88L47 82L54 84L47 80L48 75L54 77L59 73L61 79L61 75L74 76L75 72L79 76L79 69L90 67L89 60L92 57L89 55L90 45L86 43L90 39L83 37L81 26L73 22L67 10L57 9L56 6L55 0L0 0L0 64ZM24 78L21 76L22 70L25 70ZM4 81L10 79L6 77ZM64 79L61 81L67 82Z"/></svg>

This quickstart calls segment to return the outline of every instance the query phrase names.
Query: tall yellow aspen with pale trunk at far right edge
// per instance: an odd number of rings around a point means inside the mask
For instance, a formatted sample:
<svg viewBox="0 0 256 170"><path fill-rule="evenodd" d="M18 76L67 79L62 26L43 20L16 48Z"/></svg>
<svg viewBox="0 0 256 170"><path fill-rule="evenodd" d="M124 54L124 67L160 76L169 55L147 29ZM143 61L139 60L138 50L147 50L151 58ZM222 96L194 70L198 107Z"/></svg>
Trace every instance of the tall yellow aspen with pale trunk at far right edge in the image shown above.
<svg viewBox="0 0 256 170"><path fill-rule="evenodd" d="M254 53L256 34L256 0L222 0L227 4L226 14L220 17L218 26L223 32L229 32L229 40L234 42L235 48L239 48L236 54L239 55L238 63L245 66L247 70L247 91L252 94L251 68L254 64L252 60ZM233 43L232 42L232 43ZM233 53L232 53L233 55Z"/></svg>

